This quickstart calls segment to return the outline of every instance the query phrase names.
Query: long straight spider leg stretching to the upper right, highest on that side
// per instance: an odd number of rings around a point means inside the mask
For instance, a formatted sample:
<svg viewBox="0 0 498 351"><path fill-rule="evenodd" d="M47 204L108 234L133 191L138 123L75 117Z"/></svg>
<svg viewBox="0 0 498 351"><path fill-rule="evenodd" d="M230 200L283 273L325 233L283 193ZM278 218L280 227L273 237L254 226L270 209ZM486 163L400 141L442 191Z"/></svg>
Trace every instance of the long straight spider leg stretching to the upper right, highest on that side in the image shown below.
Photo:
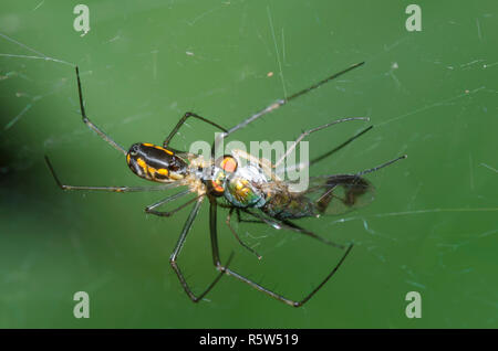
<svg viewBox="0 0 498 351"><path fill-rule="evenodd" d="M279 108L279 107L286 105L287 103L293 100L294 98L297 98L297 97L299 97L299 96L301 96L301 95L304 95L304 94L307 94L307 93L309 93L309 92L311 92L311 91L313 91L313 89L320 87L321 85L323 85L323 84L325 84L325 83L328 83L328 82L330 82L330 81L332 81L332 79L334 79L334 78L336 78L336 77L343 75L344 73L350 72L351 70L354 70L354 68L356 68L356 67L360 67L360 66L363 65L363 64L364 64L364 62L360 62L360 63L356 63L356 64L354 64L354 65L351 65L350 67L347 67L347 68L345 68L345 70L343 70L343 71L341 71L341 72L338 72L338 73L335 73L335 74L333 74L333 75L326 77L325 79L322 79L322 81L320 81L320 82L313 84L312 86L310 86L310 87L308 87L308 88L305 88L305 89L302 89L302 91L300 91L300 92L298 92L298 93L295 93L295 94L292 94L291 96L289 96L289 97L287 97L287 98L281 98L281 99L274 102L273 104L269 105L268 107L263 108L262 110L260 110L260 111L253 114L253 115L250 116L249 118L242 120L240 124L238 124L238 125L231 127L231 128L228 129L226 132L222 132L221 135L219 135L219 136L215 139L214 145L212 145L212 148L211 148L211 153L212 153L212 156L216 155L216 151L217 151L216 149L217 149L217 147L221 143L221 140L225 139L226 137L228 137L229 135L231 135L232 132L235 132L235 131L237 131L237 130L239 130L239 129L246 127L247 125L249 125L250 123L255 121L256 119L258 119L258 118L264 116L266 114L269 114L269 113L276 110L277 108Z"/></svg>

